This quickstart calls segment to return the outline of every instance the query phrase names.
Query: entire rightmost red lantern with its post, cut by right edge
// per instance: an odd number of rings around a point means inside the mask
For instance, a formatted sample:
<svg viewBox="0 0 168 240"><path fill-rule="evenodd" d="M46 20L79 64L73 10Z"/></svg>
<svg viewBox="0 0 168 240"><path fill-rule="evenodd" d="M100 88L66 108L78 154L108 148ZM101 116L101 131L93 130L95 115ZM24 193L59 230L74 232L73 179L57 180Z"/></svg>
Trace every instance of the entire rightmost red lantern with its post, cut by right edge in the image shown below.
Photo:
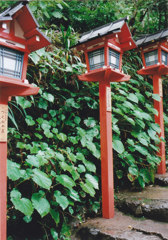
<svg viewBox="0 0 168 240"><path fill-rule="evenodd" d="M166 156L163 118L163 89L162 75L168 74L168 29L162 30L155 34L150 34L137 40L136 44L140 48L143 68L138 74L149 75L153 79L153 93L160 96L160 101L154 100L154 108L158 115L155 114L155 123L160 126L160 144L157 155L161 158L158 166L158 174L166 173Z"/></svg>

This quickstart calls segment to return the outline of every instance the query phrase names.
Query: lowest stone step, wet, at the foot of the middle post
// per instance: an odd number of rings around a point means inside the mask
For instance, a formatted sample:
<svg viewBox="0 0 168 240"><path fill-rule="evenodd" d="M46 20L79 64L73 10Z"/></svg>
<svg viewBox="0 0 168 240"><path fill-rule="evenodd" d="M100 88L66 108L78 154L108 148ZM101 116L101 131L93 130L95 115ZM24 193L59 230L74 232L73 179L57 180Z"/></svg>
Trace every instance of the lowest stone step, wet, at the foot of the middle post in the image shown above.
<svg viewBox="0 0 168 240"><path fill-rule="evenodd" d="M87 220L72 240L168 240L168 223L136 219L115 210L112 219Z"/></svg>

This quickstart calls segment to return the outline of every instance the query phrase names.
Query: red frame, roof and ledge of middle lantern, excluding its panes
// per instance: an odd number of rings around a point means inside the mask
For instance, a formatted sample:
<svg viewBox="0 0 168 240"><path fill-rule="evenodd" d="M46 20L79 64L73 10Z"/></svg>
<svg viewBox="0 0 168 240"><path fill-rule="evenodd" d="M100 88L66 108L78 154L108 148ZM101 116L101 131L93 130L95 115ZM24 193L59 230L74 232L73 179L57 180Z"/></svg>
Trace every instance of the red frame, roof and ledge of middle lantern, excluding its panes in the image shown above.
<svg viewBox="0 0 168 240"><path fill-rule="evenodd" d="M122 71L123 52L136 47L134 40L127 25L128 18L122 18L112 23L108 23L81 35L78 44L75 46L78 51L84 51L87 71L78 76L82 81L101 81L106 79L111 82L128 81L130 76ZM91 69L89 64L89 54L104 48L104 66ZM110 64L109 51L119 54L119 66L114 67ZM97 74L100 73L100 74Z"/></svg>

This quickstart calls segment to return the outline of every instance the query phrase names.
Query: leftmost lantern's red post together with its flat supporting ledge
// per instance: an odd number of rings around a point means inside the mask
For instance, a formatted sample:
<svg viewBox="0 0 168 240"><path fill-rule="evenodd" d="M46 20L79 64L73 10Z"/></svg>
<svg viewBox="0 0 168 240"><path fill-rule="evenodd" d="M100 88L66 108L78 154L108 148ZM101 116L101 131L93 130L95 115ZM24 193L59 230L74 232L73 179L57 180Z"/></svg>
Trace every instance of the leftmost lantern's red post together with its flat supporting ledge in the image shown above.
<svg viewBox="0 0 168 240"><path fill-rule="evenodd" d="M5 87L1 87L6 84ZM12 87L11 87L12 85ZM7 120L8 99L10 96L35 95L39 88L19 83L13 86L13 80L3 82L0 79L0 240L6 240L7 224Z"/></svg>

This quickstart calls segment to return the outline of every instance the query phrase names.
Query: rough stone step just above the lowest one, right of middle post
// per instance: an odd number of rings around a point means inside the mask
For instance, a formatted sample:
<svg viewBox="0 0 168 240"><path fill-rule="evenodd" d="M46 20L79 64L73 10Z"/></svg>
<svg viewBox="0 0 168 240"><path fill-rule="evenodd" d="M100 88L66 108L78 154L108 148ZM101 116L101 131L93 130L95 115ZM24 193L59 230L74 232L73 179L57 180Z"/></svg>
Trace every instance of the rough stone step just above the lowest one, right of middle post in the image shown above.
<svg viewBox="0 0 168 240"><path fill-rule="evenodd" d="M116 207L136 217L168 223L168 188L148 186L141 192L128 190L117 193Z"/></svg>

